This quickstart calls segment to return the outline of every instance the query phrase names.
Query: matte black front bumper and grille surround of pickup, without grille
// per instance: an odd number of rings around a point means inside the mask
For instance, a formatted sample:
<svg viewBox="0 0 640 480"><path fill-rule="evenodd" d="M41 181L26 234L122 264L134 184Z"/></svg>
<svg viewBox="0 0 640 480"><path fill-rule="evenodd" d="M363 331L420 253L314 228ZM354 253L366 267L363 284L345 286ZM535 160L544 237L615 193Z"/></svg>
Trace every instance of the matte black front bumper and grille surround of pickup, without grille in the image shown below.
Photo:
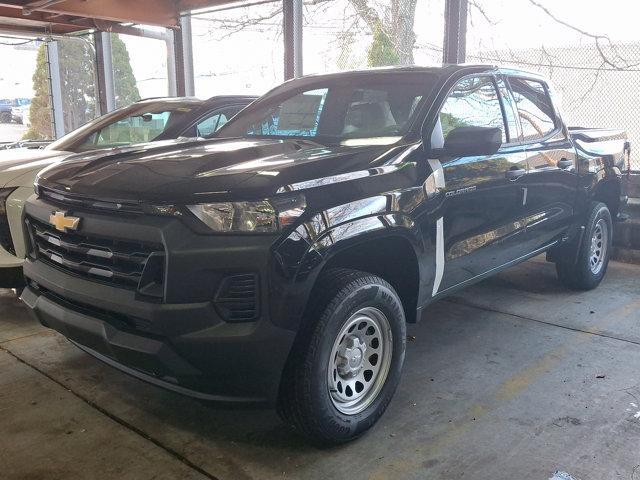
<svg viewBox="0 0 640 480"><path fill-rule="evenodd" d="M37 200L26 207L28 216L41 221L50 211ZM268 243L225 248L228 240L217 244L179 221L141 217L117 224L112 215L74 214L82 215L82 234L157 235L166 247L165 297L150 300L135 289L74 275L30 256L22 299L43 325L120 370L183 394L225 402L276 400L295 332L269 318ZM216 282L247 271L259 279L260 308L251 321L228 321L217 303ZM199 287L190 289L196 280Z"/></svg>

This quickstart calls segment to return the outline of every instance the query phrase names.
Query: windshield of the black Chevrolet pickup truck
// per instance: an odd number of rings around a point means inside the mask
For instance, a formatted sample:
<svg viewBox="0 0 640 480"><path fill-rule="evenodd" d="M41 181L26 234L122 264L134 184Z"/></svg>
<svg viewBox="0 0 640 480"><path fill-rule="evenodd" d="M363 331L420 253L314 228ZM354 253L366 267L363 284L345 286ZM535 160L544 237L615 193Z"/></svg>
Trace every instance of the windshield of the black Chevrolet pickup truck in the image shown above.
<svg viewBox="0 0 640 480"><path fill-rule="evenodd" d="M258 100L216 136L393 143L406 133L435 78L425 72L367 73L325 79L305 89L291 85L287 93Z"/></svg>

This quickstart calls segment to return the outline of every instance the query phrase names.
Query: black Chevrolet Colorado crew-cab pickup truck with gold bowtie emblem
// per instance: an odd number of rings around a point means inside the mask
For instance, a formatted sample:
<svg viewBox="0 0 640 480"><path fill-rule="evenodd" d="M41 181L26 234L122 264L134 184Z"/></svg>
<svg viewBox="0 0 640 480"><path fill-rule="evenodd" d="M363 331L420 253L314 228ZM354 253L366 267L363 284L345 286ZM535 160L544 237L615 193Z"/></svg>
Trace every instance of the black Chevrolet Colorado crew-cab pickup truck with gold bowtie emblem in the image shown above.
<svg viewBox="0 0 640 480"><path fill-rule="evenodd" d="M22 299L135 377L344 442L386 409L434 300L543 252L596 287L628 161L624 132L568 129L533 74L300 78L211 141L41 172Z"/></svg>

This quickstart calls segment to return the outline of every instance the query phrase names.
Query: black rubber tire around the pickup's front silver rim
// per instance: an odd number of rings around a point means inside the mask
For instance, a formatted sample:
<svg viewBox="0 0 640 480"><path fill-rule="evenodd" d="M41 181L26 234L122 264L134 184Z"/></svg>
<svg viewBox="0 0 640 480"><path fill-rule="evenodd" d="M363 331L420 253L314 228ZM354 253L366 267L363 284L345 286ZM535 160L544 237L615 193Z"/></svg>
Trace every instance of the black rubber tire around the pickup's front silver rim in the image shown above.
<svg viewBox="0 0 640 480"><path fill-rule="evenodd" d="M371 428L382 416L396 391L406 349L404 309L398 294L385 280L356 270L331 269L325 272L319 279L314 296L316 298L307 309L303 327L283 371L278 414L285 423L313 443L340 444L359 437ZM386 345L392 347L392 353L390 361L386 359L388 357L382 358L384 355L377 360L385 364L388 362L388 370L385 370L384 379L378 377L379 373L375 374L375 396L373 393L364 393L365 397L370 395L369 403L363 400L362 411L346 414L336 407L334 395L338 394L337 390L332 390L333 393L329 391L330 370L333 372L333 381L336 380L336 370L330 365L338 358L337 355L332 358L338 336L345 339L359 334L360 330L355 329L354 333L342 335L342 330L353 324L354 314L363 311L382 312L386 316L386 331L391 332L390 338L386 337ZM357 328L363 328L360 325ZM365 333L369 331L366 329ZM375 350L368 350L367 342L369 340L365 338L361 344L365 348L363 357L371 355L367 357L369 360L362 361L360 367L365 369L365 375L366 368L369 368L365 362L371 361L372 353L375 353ZM378 348L374 342L371 341L371 345ZM388 352L389 349L381 351ZM349 368L350 364L342 366L345 367ZM382 371L382 367L378 368ZM372 390L370 387L368 392Z"/></svg>

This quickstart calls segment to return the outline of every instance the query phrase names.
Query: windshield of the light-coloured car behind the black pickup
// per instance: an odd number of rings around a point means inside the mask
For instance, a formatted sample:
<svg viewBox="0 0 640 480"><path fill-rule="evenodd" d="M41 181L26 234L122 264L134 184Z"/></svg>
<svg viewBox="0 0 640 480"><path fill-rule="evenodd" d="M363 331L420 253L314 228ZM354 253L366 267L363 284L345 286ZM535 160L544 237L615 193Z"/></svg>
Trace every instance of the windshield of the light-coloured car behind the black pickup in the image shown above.
<svg viewBox="0 0 640 480"><path fill-rule="evenodd" d="M170 128L184 125L200 103L134 104L107 114L49 144L49 150L85 152L156 140Z"/></svg>

